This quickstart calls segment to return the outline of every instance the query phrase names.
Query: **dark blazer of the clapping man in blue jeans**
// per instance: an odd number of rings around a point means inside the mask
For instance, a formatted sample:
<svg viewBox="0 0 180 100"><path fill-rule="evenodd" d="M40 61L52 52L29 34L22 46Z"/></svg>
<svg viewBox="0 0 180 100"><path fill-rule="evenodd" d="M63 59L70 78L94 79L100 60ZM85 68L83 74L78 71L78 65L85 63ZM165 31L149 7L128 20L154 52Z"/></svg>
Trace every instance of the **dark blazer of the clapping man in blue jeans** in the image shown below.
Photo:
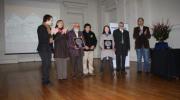
<svg viewBox="0 0 180 100"><path fill-rule="evenodd" d="M146 35L144 34L145 31L147 32ZM149 40L151 38L151 34L149 31L149 27L143 27L143 34L139 35L140 27L134 28L133 38L135 39L135 49L140 48L149 48Z"/></svg>

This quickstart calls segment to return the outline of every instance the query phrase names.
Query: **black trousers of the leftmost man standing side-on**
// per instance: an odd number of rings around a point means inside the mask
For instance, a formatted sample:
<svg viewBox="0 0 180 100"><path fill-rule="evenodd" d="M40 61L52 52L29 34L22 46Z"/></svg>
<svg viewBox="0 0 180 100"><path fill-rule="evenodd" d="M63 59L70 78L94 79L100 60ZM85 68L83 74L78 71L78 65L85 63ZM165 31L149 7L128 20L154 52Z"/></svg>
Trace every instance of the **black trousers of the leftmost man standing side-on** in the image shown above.
<svg viewBox="0 0 180 100"><path fill-rule="evenodd" d="M51 67L51 52L49 51L40 51L39 55L42 60L42 81L48 82L49 81L49 72Z"/></svg>

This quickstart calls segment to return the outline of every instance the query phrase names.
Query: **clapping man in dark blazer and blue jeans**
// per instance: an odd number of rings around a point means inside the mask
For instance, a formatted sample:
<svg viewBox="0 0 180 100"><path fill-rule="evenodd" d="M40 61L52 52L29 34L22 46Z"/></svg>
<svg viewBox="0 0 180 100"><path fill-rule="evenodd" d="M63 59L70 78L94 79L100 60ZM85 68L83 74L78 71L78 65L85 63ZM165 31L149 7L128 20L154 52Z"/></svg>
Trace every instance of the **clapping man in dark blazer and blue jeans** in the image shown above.
<svg viewBox="0 0 180 100"><path fill-rule="evenodd" d="M144 58L144 71L149 72L149 39L151 34L149 27L144 26L144 19L138 18L138 26L134 28L133 38L135 39L135 49L137 54L137 71L142 72L142 57Z"/></svg>

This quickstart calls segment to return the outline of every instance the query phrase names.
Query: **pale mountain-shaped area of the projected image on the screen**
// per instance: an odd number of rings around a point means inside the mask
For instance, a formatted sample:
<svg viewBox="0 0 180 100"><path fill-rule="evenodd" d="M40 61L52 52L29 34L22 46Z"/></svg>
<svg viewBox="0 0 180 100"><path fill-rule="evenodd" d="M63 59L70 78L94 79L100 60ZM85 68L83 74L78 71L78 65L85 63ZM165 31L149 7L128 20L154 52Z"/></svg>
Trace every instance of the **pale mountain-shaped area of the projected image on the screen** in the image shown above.
<svg viewBox="0 0 180 100"><path fill-rule="evenodd" d="M6 53L36 52L39 23L41 18L34 14L25 19L13 14L5 23Z"/></svg>

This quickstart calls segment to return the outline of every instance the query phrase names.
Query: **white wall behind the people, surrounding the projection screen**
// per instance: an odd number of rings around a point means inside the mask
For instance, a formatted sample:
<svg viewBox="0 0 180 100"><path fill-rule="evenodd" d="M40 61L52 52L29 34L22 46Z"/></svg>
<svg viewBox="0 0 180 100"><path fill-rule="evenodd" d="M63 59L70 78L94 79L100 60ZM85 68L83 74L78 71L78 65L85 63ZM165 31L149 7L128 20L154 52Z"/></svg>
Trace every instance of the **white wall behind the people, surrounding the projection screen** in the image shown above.
<svg viewBox="0 0 180 100"><path fill-rule="evenodd" d="M31 1L31 0L25 0ZM35 0L32 0L36 2ZM53 2L51 0L39 0L40 2ZM162 19L170 19L175 25L168 39L169 45L173 48L180 48L180 0L54 0L60 5L60 18L67 26L73 19L68 14L76 16L80 23L89 22L96 33L97 38L102 32L102 27L110 22L124 21L129 24L131 53L130 60L136 60L134 40L132 38L133 28L136 26L138 17L144 17L145 25L152 27L153 23ZM0 0L0 22L4 22L4 1ZM41 6L39 6L41 7ZM77 14L80 14L81 17ZM38 60L38 55L4 55L4 23L0 23L0 63L12 63L21 61ZM152 37L150 46L154 47L155 39ZM99 48L96 48L95 57L99 57Z"/></svg>

